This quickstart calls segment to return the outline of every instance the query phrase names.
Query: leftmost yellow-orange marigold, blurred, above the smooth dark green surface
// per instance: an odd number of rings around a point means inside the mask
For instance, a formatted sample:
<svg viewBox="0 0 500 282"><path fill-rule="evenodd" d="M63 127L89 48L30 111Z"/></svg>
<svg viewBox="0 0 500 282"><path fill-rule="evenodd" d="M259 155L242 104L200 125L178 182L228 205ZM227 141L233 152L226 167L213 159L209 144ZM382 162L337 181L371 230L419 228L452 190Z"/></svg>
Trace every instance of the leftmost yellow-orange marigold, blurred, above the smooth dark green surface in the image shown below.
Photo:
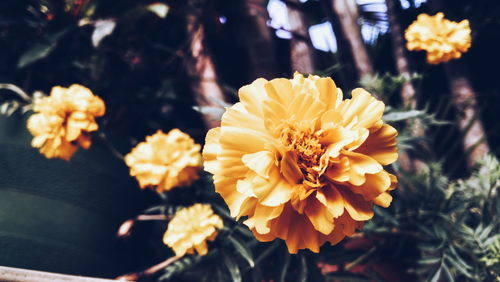
<svg viewBox="0 0 500 282"><path fill-rule="evenodd" d="M35 101L28 129L34 136L31 145L47 158L69 160L81 146L92 143L89 133L99 126L95 118L104 115L101 98L81 85L56 86L50 96Z"/></svg>

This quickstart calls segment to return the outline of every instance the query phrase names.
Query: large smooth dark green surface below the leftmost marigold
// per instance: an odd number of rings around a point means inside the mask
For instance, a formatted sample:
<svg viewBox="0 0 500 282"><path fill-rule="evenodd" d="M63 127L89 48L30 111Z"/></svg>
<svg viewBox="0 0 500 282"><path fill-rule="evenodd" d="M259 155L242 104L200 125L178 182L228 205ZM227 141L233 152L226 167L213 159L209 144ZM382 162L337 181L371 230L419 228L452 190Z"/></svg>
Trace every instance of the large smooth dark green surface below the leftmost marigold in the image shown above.
<svg viewBox="0 0 500 282"><path fill-rule="evenodd" d="M26 119L0 116L0 265L100 277L136 269L144 257L118 248L116 232L148 194L97 142L69 162L45 158Z"/></svg>

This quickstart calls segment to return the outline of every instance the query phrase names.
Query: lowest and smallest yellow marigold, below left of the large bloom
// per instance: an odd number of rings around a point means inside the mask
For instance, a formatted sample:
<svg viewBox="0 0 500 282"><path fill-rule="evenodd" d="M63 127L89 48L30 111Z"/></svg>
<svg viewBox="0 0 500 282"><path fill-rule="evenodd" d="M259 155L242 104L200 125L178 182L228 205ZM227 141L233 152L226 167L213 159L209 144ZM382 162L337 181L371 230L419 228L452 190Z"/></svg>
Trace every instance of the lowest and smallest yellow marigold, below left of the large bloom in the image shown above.
<svg viewBox="0 0 500 282"><path fill-rule="evenodd" d="M207 254L207 241L215 240L222 219L213 213L210 205L195 204L175 213L163 236L163 243L172 248L176 256Z"/></svg>

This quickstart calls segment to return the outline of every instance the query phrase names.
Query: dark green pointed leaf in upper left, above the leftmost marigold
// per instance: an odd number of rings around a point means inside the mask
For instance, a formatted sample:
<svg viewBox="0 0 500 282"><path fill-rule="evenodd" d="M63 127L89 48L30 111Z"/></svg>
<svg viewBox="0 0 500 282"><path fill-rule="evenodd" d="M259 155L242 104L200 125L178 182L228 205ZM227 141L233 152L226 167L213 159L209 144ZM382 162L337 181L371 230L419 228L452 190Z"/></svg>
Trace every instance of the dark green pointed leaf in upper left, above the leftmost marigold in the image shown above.
<svg viewBox="0 0 500 282"><path fill-rule="evenodd" d="M69 31L69 28L54 33L43 40L33 44L31 49L26 51L19 61L17 62L17 68L22 69L36 61L39 61L47 57L57 46L59 39Z"/></svg>

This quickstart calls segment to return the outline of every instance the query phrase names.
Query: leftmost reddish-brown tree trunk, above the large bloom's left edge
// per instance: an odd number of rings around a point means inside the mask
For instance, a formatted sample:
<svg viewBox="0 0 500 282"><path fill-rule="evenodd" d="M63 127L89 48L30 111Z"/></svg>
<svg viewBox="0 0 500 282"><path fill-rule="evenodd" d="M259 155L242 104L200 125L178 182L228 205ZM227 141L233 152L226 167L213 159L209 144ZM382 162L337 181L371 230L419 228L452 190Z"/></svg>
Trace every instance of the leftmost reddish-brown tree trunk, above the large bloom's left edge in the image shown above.
<svg viewBox="0 0 500 282"><path fill-rule="evenodd" d="M199 4L189 5L186 11L186 34L188 50L186 53L186 72L195 101L200 107L221 108L224 92L217 80L217 72L210 50L205 45L205 31ZM203 120L207 128L217 127L220 120L211 114L204 114Z"/></svg>

